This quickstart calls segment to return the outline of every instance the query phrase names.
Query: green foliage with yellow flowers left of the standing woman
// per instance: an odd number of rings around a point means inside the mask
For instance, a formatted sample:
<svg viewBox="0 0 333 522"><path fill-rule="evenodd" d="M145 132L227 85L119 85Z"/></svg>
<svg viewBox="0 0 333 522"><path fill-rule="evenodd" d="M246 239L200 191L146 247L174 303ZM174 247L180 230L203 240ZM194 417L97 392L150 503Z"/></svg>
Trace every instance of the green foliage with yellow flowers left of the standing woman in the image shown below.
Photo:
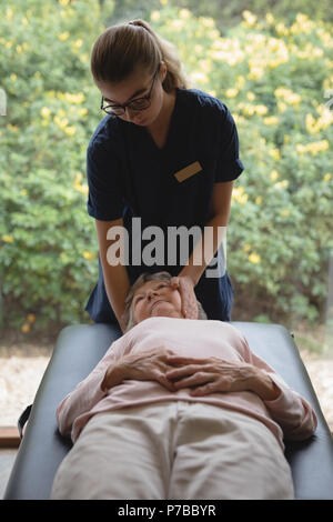
<svg viewBox="0 0 333 522"><path fill-rule="evenodd" d="M20 0L3 14L0 273L6 323L21 325L27 313L40 327L73 322L83 319L97 278L84 178L87 144L102 117L89 68L91 47L104 29L100 4Z"/></svg>

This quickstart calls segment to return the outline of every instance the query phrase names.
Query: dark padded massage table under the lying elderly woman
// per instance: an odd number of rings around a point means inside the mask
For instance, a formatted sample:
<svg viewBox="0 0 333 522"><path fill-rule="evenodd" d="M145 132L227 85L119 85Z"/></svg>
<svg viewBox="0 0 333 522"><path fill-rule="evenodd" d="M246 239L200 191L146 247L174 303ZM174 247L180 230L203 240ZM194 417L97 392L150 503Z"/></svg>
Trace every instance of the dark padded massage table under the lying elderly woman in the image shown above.
<svg viewBox="0 0 333 522"><path fill-rule="evenodd" d="M301 393L317 414L317 430L311 439L301 442L285 441L285 456L292 470L295 499L332 500L332 435L293 334L280 324L231 324L245 335L252 351ZM33 404L21 415L27 418L30 412L4 500L49 499L56 472L72 446L71 441L61 436L58 431L56 409L64 395L91 372L121 334L118 325L103 323L69 325L60 332ZM21 419L19 422L21 431L23 421Z"/></svg>

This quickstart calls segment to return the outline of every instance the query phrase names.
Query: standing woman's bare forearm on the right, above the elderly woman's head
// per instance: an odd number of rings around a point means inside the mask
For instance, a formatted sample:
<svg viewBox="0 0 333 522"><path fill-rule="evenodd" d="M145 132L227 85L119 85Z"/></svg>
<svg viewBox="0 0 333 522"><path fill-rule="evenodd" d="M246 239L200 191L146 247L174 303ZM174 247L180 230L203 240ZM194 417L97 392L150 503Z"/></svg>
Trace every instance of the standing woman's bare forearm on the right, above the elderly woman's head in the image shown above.
<svg viewBox="0 0 333 522"><path fill-rule="evenodd" d="M216 214L208 221L201 240L194 245L188 263L179 273L180 277L190 277L194 287L220 248L226 233L226 224L228 217L223 214Z"/></svg>

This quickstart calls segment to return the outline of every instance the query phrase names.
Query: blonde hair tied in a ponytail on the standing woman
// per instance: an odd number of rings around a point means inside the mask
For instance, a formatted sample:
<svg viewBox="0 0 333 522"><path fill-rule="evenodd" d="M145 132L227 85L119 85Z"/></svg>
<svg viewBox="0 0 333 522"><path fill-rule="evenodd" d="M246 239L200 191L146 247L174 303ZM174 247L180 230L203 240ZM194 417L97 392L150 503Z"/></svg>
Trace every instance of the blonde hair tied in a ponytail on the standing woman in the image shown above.
<svg viewBox="0 0 333 522"><path fill-rule="evenodd" d="M174 88L190 88L182 70L175 46L159 37L144 20L109 27L95 41L91 53L91 72L95 82L118 83L137 68L153 74L161 61L167 64L162 87L165 92Z"/></svg>

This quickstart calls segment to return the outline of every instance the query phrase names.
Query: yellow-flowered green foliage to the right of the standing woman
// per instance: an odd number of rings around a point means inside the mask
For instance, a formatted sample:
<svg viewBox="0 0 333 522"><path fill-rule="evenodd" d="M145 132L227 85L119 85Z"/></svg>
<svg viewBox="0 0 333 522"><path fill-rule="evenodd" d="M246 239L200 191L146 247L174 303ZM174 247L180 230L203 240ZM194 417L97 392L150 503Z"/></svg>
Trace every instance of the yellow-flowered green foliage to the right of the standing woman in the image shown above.
<svg viewBox="0 0 333 522"><path fill-rule="evenodd" d="M285 26L244 11L228 38L186 9L153 12L152 23L176 43L193 87L222 100L238 124L245 171L228 231L231 277L264 291L271 317L317 320L333 249L332 32L301 13Z"/></svg>

